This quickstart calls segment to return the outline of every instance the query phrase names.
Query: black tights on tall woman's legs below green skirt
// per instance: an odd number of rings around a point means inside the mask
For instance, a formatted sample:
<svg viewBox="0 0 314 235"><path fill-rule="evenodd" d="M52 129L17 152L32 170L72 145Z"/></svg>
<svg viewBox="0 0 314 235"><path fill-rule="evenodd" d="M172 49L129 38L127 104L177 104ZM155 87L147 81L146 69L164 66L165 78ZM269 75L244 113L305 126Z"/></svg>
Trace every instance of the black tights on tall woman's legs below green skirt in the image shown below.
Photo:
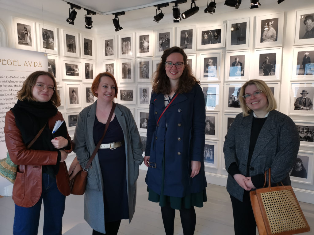
<svg viewBox="0 0 314 235"><path fill-rule="evenodd" d="M195 231L196 215L194 206L190 209L181 208L180 217L184 235L193 235ZM166 235L173 235L176 210L172 209L170 202L161 207L162 221L164 222Z"/></svg>

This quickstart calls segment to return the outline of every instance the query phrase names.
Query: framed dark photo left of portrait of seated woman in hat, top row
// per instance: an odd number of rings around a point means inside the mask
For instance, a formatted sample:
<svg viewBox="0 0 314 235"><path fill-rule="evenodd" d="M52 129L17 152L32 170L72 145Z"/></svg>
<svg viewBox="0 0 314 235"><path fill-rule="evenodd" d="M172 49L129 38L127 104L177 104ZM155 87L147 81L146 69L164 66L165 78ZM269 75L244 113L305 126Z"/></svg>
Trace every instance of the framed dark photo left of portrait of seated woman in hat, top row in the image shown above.
<svg viewBox="0 0 314 235"><path fill-rule="evenodd" d="M227 21L226 50L242 50L249 48L250 18Z"/></svg>

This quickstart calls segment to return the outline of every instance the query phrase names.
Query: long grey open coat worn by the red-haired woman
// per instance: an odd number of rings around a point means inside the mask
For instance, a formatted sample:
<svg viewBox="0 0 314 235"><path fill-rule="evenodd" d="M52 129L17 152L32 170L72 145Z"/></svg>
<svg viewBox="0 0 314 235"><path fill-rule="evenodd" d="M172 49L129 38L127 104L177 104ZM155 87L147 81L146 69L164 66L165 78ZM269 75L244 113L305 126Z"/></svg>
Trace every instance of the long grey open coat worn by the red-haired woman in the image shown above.
<svg viewBox="0 0 314 235"><path fill-rule="evenodd" d="M74 152L81 166L87 164L90 155L95 149L93 127L96 116L96 104L84 108L78 115L73 142ZM131 111L120 104L116 104L115 114L123 130L125 152L127 160L127 194L129 204L129 222L133 217L136 202L136 180L139 165L143 162L142 141L138 133ZM105 233L104 215L104 185L101 175L98 154L92 161L88 171L87 185L84 197L84 219L90 227L98 232Z"/></svg>

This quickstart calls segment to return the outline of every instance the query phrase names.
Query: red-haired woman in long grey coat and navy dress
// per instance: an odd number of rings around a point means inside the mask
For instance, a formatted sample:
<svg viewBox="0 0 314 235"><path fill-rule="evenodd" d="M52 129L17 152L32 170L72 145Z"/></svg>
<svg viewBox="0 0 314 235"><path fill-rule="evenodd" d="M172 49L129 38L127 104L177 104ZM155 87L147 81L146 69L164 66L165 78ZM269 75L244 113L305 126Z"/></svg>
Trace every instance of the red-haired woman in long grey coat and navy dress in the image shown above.
<svg viewBox="0 0 314 235"><path fill-rule="evenodd" d="M84 168L104 133L105 123L117 97L115 78L108 72L97 75L92 92L98 99L78 115L73 150ZM136 180L143 162L142 141L131 111L116 104L109 128L88 170L84 197L84 219L93 235L116 235L121 219L135 211Z"/></svg>

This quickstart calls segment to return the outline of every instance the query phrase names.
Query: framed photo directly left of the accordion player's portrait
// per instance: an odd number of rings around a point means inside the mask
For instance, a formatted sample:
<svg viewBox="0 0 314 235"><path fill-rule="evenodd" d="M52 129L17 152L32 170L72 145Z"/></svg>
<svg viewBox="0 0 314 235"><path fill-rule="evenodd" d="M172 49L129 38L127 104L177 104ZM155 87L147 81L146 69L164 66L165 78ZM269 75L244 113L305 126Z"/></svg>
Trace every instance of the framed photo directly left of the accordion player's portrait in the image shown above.
<svg viewBox="0 0 314 235"><path fill-rule="evenodd" d="M227 51L225 81L247 81L250 77L250 50Z"/></svg>

